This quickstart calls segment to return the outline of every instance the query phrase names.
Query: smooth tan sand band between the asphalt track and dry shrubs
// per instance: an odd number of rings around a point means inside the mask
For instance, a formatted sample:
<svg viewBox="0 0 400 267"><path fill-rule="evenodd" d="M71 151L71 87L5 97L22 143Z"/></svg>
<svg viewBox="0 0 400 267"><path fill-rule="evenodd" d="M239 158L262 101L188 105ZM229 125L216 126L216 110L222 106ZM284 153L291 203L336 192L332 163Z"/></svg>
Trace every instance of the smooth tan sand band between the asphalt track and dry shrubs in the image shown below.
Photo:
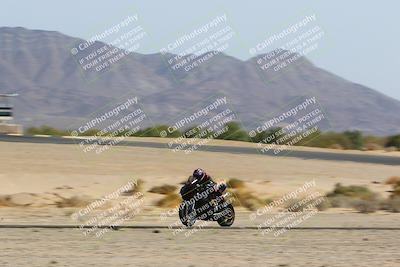
<svg viewBox="0 0 400 267"><path fill-rule="evenodd" d="M189 155L169 149L112 147L84 153L78 145L0 143L0 194L53 193L99 197L142 179L144 189L179 185L198 167L216 180L235 177L257 193L279 196L315 180L315 190L326 192L335 183L367 185L385 194L383 182L399 175L398 166L303 160L195 151ZM378 182L378 183L373 183Z"/></svg>

